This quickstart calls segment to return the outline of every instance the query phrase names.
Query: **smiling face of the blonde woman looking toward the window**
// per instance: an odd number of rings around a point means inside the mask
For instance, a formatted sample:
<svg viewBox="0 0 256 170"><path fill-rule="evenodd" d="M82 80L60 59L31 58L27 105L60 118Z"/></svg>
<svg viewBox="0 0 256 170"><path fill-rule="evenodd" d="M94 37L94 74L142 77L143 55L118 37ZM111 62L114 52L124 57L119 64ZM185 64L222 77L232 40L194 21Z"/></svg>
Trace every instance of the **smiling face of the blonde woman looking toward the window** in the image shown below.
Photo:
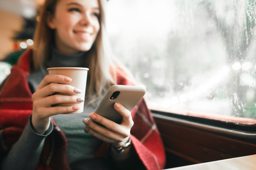
<svg viewBox="0 0 256 170"><path fill-rule="evenodd" d="M56 48L72 54L88 51L100 29L98 0L59 0L47 24L55 30Z"/></svg>

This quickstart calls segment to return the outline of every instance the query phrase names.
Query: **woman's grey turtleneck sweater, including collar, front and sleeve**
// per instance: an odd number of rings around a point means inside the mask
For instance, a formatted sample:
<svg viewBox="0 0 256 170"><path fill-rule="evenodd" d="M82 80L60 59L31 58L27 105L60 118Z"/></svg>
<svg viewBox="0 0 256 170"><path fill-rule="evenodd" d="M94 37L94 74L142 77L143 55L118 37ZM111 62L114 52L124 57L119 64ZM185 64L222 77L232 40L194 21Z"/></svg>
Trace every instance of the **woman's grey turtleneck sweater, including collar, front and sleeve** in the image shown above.
<svg viewBox="0 0 256 170"><path fill-rule="evenodd" d="M50 52L49 59L45 63L43 70L31 71L27 78L31 92L34 93L36 87L47 74L46 68L49 67L88 67L85 65L86 53L79 52L72 55L65 55L54 48ZM88 101L85 101L85 103ZM67 137L67 158L70 163L81 161L83 159L94 158L94 153L101 144L96 137L83 131L83 118L88 118L88 114L93 112L95 108L85 107L83 113L77 114L60 114L53 116L57 126L63 131ZM39 135L31 128L31 120L29 120L20 139L11 148L9 154L2 162L2 170L34 170L36 169L40 153L47 135L52 133L53 125L51 123L49 129L44 135Z"/></svg>

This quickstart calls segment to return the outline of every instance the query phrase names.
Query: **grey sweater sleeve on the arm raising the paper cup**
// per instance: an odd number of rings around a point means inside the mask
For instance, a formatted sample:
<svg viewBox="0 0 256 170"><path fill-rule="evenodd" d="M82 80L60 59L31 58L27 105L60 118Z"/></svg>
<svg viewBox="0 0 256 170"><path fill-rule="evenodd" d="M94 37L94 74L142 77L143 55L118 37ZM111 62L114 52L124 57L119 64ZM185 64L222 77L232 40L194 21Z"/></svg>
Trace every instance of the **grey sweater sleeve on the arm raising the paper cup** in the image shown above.
<svg viewBox="0 0 256 170"><path fill-rule="evenodd" d="M31 127L31 116L22 135L1 163L1 170L35 170L40 161L45 138L52 133L53 123L44 135L35 133Z"/></svg>

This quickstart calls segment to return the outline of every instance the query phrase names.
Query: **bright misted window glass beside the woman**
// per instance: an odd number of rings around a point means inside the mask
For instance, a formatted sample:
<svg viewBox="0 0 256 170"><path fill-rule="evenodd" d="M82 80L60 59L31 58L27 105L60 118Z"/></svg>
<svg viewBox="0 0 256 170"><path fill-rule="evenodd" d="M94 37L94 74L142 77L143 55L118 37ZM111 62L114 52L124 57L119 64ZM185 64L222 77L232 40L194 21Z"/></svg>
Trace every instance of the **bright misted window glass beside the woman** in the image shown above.
<svg viewBox="0 0 256 170"><path fill-rule="evenodd" d="M154 109L256 119L255 0L110 0L114 54Z"/></svg>

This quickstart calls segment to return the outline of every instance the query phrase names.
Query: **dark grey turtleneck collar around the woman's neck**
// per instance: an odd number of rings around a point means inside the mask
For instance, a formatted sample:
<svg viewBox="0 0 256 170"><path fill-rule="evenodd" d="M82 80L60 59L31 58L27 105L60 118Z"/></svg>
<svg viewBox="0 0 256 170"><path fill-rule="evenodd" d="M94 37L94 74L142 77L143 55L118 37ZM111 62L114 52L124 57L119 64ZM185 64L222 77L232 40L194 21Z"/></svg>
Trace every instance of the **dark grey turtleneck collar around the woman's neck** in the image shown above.
<svg viewBox="0 0 256 170"><path fill-rule="evenodd" d="M63 54L52 47L50 57L45 63L49 67L86 67L86 52L77 52L75 54Z"/></svg>

